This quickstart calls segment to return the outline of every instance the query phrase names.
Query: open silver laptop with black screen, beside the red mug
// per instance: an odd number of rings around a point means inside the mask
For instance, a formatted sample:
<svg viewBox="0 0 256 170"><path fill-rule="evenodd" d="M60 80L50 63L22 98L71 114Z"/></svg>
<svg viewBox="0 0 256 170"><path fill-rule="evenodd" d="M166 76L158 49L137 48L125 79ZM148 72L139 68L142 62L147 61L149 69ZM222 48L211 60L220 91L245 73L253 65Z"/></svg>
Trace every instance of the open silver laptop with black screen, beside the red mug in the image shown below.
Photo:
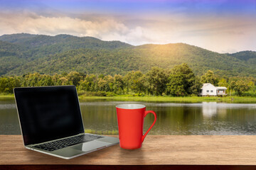
<svg viewBox="0 0 256 170"><path fill-rule="evenodd" d="M75 86L21 87L14 96L27 149L71 159L119 143L85 133Z"/></svg>

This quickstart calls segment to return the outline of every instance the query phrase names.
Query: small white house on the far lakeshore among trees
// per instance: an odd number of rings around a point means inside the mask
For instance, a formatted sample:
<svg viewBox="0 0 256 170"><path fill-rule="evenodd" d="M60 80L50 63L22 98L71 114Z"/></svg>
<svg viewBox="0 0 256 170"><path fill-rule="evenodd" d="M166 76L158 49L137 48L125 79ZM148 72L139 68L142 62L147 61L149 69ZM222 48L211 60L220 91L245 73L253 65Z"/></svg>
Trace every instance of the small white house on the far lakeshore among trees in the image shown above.
<svg viewBox="0 0 256 170"><path fill-rule="evenodd" d="M213 86L213 84L203 84L199 96L224 96L226 87Z"/></svg>

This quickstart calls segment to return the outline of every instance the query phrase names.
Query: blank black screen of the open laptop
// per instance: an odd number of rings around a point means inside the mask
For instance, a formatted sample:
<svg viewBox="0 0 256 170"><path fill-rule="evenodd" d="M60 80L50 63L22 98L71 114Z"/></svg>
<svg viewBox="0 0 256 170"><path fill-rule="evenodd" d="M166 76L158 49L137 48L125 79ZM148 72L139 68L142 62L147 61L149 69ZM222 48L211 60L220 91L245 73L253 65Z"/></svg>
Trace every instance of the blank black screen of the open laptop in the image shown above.
<svg viewBox="0 0 256 170"><path fill-rule="evenodd" d="M14 89L25 145L84 132L75 86Z"/></svg>

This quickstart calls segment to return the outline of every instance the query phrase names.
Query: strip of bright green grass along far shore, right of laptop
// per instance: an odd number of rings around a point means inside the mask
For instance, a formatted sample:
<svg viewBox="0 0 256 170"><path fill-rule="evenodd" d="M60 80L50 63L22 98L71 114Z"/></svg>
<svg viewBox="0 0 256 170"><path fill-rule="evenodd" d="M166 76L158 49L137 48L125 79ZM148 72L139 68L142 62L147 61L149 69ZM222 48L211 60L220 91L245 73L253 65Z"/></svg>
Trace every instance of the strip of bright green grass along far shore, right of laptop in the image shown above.
<svg viewBox="0 0 256 170"><path fill-rule="evenodd" d="M226 102L226 103L256 103L256 98L226 96L226 97L171 97L171 96L80 96L81 101L86 100L105 100L105 101L156 101L156 102Z"/></svg>

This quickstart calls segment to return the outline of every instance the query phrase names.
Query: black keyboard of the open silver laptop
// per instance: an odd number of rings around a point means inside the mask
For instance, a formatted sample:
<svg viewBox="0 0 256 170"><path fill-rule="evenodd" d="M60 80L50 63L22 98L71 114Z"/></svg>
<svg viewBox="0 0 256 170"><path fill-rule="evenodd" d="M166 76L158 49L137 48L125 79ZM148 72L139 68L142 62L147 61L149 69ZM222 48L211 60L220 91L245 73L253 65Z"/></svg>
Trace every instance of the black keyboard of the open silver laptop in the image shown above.
<svg viewBox="0 0 256 170"><path fill-rule="evenodd" d="M47 142L41 145L36 145L34 147L52 152L58 149L62 149L64 147L70 147L72 145L76 145L82 142L90 142L92 140L96 140L100 138L102 138L102 136L84 134L84 135L79 135L75 137L65 138L63 140L55 140L53 142Z"/></svg>

